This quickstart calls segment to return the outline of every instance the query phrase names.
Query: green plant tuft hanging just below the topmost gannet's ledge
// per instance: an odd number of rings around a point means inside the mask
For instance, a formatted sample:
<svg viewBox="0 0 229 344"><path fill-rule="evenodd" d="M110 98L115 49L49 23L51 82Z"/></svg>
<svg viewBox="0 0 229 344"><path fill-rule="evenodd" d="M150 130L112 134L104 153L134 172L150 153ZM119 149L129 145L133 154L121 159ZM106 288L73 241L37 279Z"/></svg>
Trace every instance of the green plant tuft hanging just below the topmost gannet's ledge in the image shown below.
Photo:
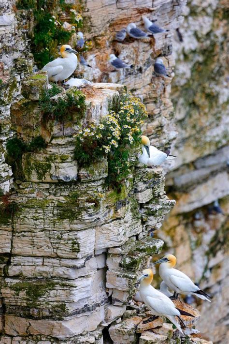
<svg viewBox="0 0 229 344"><path fill-rule="evenodd" d="M69 90L63 97L55 100L51 98L62 90L53 85L52 89L44 90L39 104L45 118L80 121L86 111L85 95L79 90Z"/></svg>

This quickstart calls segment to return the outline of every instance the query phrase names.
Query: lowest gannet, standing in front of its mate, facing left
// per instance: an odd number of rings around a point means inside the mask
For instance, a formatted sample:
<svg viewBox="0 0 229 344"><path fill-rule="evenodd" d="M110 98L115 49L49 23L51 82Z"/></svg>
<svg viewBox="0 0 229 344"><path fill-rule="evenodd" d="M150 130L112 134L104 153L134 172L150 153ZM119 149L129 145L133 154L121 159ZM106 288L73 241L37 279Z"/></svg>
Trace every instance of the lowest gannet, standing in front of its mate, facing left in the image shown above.
<svg viewBox="0 0 229 344"><path fill-rule="evenodd" d="M145 269L143 270L142 276L138 279L138 281L141 281L140 296L143 299L143 302L148 306L153 315L166 316L172 322L172 324L174 324L176 328L179 329L182 334L184 334L180 325L176 321L175 316L178 316L180 321L183 323L180 315L193 315L176 308L170 298L162 294L159 290L155 289L151 285L153 277L153 271L150 269Z"/></svg>

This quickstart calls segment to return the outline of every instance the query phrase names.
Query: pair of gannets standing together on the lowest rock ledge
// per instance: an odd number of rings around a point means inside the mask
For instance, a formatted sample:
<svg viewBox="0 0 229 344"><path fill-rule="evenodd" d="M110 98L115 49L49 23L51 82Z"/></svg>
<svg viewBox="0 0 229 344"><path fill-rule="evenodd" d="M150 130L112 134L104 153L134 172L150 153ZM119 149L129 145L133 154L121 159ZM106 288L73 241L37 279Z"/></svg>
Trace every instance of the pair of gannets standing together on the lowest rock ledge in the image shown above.
<svg viewBox="0 0 229 344"><path fill-rule="evenodd" d="M138 282L140 282L140 289L134 299L136 301L144 302L153 314L153 317L143 321L143 323L153 321L155 316L164 315L184 335L175 316L178 317L181 324L185 327L180 316L186 315L194 317L194 315L177 308L172 302L172 299L177 299L178 294L184 294L195 295L200 299L211 302L210 296L200 290L200 288L194 284L185 273L174 269L174 266L176 265L176 257L173 254L165 255L154 263L154 265L157 264L160 264L159 275L163 280L160 285L160 290L155 289L151 285L154 277L151 269L144 269L142 275L138 279ZM169 292L168 288L174 291L173 296Z"/></svg>

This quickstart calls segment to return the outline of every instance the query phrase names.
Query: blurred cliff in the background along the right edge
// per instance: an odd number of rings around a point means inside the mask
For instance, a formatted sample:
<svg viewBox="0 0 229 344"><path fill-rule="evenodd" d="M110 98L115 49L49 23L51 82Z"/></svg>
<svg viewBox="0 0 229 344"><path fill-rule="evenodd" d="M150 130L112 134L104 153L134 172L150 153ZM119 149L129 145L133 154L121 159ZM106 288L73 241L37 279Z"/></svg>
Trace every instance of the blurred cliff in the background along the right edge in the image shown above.
<svg viewBox="0 0 229 344"><path fill-rule="evenodd" d="M213 296L199 304L198 329L214 343L227 343L229 230L229 75L227 1L188 1L175 36L172 100L177 155L166 175L176 206L158 238L178 258L178 267ZM219 200L223 213L216 213ZM195 304L195 303L194 303ZM211 324L211 326L209 326Z"/></svg>

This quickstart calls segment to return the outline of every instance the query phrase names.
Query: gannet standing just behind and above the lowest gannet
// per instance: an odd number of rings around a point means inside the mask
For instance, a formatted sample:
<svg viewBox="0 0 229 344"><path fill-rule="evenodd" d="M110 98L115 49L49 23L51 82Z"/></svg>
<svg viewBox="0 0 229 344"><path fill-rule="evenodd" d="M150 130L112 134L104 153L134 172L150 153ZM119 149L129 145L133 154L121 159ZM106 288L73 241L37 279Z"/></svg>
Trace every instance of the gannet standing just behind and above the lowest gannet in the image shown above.
<svg viewBox="0 0 229 344"><path fill-rule="evenodd" d="M168 285L168 287L174 290L174 296L178 294L191 294L196 295L198 298L209 300L210 296L200 290L200 288L195 285L185 273L173 269L176 265L176 257L172 254L167 254L163 258L157 260L154 265L160 264L159 275L162 280Z"/></svg>

